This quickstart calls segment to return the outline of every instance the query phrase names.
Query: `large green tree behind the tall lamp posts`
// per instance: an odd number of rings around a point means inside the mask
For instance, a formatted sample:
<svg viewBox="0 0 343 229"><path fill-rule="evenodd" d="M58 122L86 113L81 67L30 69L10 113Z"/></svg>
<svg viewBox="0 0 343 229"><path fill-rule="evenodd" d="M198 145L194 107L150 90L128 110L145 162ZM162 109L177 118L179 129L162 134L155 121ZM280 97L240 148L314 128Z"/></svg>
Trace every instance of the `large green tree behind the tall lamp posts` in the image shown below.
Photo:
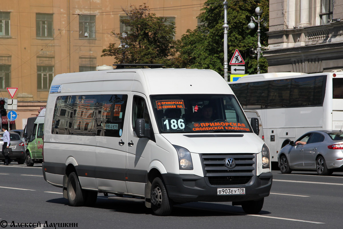
<svg viewBox="0 0 343 229"><path fill-rule="evenodd" d="M246 62L247 73L257 72L257 57L252 56L251 48L257 47L257 29L250 31L248 23L250 16L256 18L255 8L263 9L264 22L261 30L261 44L267 46L269 1L268 0L229 0L227 21L228 29L228 61L238 49ZM224 10L223 2L208 0L204 3L198 18L202 26L188 30L177 42L178 56L174 58L175 67L206 68L224 75ZM262 23L263 24L263 23ZM257 26L256 26L257 27ZM267 61L260 58L261 72L267 72ZM229 69L230 70L230 69Z"/></svg>

